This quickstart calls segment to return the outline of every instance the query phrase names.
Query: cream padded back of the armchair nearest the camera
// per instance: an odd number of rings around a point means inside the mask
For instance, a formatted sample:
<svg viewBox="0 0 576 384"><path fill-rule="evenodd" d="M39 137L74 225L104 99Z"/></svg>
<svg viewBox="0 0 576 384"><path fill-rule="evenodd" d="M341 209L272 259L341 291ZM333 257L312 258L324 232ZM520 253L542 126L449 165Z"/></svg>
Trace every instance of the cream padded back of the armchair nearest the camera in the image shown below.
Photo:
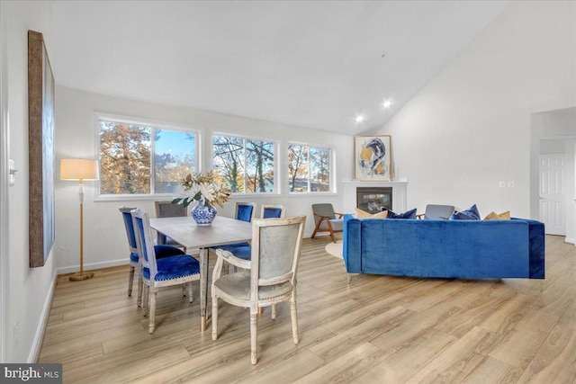
<svg viewBox="0 0 576 384"><path fill-rule="evenodd" d="M250 297L259 286L294 283L300 260L305 216L252 222Z"/></svg>

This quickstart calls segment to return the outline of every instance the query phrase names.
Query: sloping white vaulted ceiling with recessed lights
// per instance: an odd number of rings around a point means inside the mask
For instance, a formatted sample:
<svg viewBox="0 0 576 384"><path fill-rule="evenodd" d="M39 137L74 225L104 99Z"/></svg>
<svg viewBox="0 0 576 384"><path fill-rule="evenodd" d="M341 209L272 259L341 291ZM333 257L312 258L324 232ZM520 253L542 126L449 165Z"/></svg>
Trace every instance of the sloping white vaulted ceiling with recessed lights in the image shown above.
<svg viewBox="0 0 576 384"><path fill-rule="evenodd" d="M51 1L50 58L58 85L359 134L382 127L508 4Z"/></svg>

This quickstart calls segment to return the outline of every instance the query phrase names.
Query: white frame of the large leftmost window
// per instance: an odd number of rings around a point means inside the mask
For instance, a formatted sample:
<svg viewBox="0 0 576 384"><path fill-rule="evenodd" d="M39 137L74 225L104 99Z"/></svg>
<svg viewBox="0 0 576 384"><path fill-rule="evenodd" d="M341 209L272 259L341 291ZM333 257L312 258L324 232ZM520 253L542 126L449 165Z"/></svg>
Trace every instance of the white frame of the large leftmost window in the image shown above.
<svg viewBox="0 0 576 384"><path fill-rule="evenodd" d="M98 160L98 170L100 170L100 121L118 122L132 125L150 127L152 129L166 129L180 132L192 133L196 136L194 140L194 163L196 172L202 172L202 127L193 124L178 124L167 121L157 121L153 119L137 118L119 114L94 112L94 132L95 132L95 153ZM154 140L150 143L150 190L154 190ZM100 178L94 184L94 201L157 201L169 200L175 196L174 193L100 193Z"/></svg>

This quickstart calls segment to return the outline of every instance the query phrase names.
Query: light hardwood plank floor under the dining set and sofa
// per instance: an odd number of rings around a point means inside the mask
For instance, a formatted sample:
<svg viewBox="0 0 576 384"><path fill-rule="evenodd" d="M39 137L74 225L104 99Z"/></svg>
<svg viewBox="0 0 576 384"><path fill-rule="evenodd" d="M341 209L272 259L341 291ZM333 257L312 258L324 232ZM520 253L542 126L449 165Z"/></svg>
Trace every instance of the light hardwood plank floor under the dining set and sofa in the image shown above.
<svg viewBox="0 0 576 384"><path fill-rule="evenodd" d="M266 308L256 366L247 310L220 302L218 340L210 321L200 333L197 282L193 304L180 288L158 293L148 335L126 295L128 266L58 278L39 362L86 383L576 382L576 247L563 237L546 237L545 281L354 275L350 285L328 241L304 239L300 344L288 303L275 320Z"/></svg>

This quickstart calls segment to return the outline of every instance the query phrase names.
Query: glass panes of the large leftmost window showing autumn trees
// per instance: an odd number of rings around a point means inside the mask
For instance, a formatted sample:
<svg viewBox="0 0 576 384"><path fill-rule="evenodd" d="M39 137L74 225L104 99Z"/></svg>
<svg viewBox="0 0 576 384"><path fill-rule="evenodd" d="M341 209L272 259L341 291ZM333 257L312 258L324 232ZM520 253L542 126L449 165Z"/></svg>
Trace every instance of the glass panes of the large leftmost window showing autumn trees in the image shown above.
<svg viewBox="0 0 576 384"><path fill-rule="evenodd" d="M195 131L120 120L98 120L100 194L175 194L196 172Z"/></svg>

